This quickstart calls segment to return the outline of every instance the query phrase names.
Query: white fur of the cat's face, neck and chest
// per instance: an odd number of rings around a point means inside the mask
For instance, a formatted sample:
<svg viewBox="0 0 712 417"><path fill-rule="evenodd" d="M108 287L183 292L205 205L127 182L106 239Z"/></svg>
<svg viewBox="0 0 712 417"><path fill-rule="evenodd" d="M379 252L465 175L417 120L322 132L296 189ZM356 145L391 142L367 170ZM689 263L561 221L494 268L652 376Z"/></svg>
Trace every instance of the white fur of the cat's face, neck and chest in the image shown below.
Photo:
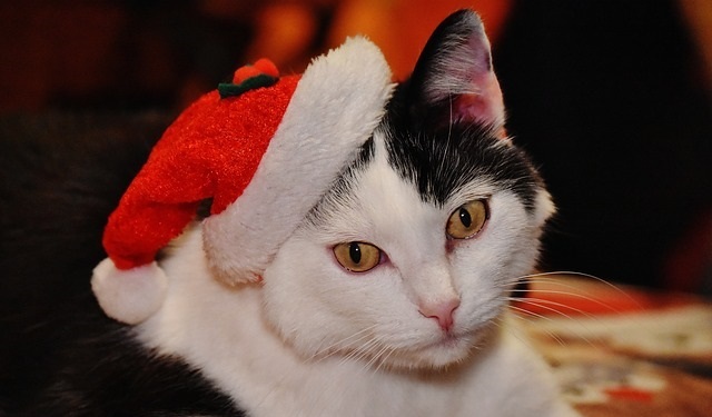
<svg viewBox="0 0 712 417"><path fill-rule="evenodd" d="M423 203L388 167L380 135L353 193L323 202L325 225L287 238L264 284L220 284L202 251L205 227L188 231L162 264L166 302L137 337L201 369L254 417L575 416L504 312L543 220L485 182L445 208ZM485 229L447 250L452 210L484 196ZM388 260L347 272L332 247L350 240L377 245ZM462 302L445 337L417 305L451 290Z"/></svg>

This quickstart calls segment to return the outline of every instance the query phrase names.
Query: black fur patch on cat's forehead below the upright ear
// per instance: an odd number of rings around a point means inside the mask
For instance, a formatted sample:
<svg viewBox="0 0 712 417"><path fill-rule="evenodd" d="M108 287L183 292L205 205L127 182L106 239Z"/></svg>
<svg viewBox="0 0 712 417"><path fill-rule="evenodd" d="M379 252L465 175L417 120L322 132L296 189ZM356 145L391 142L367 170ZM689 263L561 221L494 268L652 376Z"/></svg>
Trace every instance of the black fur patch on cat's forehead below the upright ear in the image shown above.
<svg viewBox="0 0 712 417"><path fill-rule="evenodd" d="M502 143L490 126L454 122L429 129L412 121L406 89L396 90L382 129L388 162L417 187L424 201L442 206L467 183L485 179L513 191L527 210L534 208L542 180L523 151Z"/></svg>

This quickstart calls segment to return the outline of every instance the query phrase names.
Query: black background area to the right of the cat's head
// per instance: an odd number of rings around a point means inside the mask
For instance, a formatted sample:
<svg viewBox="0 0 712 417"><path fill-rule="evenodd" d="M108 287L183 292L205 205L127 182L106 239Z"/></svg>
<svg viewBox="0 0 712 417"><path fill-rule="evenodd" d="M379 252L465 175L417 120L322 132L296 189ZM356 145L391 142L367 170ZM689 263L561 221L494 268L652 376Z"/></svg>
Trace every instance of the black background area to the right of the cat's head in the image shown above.
<svg viewBox="0 0 712 417"><path fill-rule="evenodd" d="M710 291L712 98L678 4L524 0L496 52L560 206L550 265Z"/></svg>

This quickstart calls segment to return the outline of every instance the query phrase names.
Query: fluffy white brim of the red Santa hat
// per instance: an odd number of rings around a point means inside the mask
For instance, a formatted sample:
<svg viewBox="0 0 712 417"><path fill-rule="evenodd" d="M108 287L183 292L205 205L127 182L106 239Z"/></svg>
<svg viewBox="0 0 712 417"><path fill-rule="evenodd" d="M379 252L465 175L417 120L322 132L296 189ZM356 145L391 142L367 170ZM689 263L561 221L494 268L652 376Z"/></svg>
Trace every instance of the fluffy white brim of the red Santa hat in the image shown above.
<svg viewBox="0 0 712 417"><path fill-rule="evenodd" d="M390 69L364 38L315 59L245 192L204 227L210 267L254 281L378 125Z"/></svg>

